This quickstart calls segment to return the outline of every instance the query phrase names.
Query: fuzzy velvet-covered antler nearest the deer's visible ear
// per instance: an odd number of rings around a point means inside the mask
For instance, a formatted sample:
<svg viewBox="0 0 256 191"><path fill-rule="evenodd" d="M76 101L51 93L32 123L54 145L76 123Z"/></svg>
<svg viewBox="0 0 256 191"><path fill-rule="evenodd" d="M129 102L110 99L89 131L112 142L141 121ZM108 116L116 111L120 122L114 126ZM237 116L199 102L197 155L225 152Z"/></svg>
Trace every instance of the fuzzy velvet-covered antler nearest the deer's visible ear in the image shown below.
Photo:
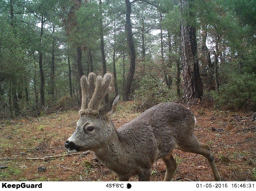
<svg viewBox="0 0 256 191"><path fill-rule="evenodd" d="M109 86L111 81L112 75L110 73L106 73L103 78L102 76L97 76L96 87L88 104L88 110L96 111L96 113L99 113L100 102L105 97L105 95L111 91L111 87Z"/></svg>

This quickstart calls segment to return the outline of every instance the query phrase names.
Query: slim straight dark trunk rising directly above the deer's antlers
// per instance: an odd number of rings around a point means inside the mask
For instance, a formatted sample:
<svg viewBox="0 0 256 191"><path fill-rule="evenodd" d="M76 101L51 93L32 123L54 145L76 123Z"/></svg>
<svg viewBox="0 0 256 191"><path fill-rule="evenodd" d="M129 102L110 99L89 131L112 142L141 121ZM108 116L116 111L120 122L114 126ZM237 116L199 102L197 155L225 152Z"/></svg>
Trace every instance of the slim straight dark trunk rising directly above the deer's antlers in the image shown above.
<svg viewBox="0 0 256 191"><path fill-rule="evenodd" d="M107 64L105 58L105 50L104 50L104 33L103 33L103 21L102 21L102 1L99 1L99 8L100 8L100 52L102 58L102 73L105 75L107 73ZM105 103L109 102L109 94L105 96Z"/></svg>

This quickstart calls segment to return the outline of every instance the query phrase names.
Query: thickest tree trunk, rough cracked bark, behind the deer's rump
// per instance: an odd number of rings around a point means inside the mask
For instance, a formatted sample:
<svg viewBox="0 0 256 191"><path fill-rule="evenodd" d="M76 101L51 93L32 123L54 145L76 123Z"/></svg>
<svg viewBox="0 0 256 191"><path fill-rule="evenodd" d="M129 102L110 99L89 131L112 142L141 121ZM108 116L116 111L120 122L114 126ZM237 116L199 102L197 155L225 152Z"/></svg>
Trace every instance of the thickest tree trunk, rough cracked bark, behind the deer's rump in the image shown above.
<svg viewBox="0 0 256 191"><path fill-rule="evenodd" d="M180 0L180 14L188 13L189 0ZM193 16L192 16L193 18ZM183 79L185 82L184 101L188 105L195 105L203 96L203 83L199 74L197 56L196 29L189 26L181 18L181 61L183 67Z"/></svg>

